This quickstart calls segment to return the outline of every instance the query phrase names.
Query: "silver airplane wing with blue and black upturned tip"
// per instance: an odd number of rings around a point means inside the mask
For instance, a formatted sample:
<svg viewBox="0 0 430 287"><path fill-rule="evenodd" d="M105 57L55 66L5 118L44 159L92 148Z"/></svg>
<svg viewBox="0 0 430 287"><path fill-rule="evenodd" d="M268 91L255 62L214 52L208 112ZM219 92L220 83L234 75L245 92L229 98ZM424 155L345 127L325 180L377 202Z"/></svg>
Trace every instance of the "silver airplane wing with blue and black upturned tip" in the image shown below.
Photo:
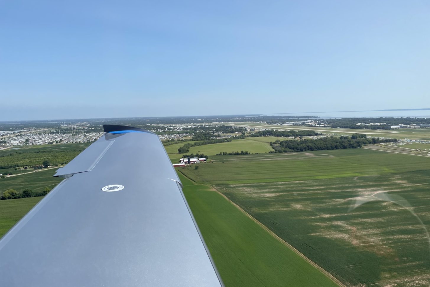
<svg viewBox="0 0 430 287"><path fill-rule="evenodd" d="M223 286L158 136L104 125L0 240L0 286Z"/></svg>

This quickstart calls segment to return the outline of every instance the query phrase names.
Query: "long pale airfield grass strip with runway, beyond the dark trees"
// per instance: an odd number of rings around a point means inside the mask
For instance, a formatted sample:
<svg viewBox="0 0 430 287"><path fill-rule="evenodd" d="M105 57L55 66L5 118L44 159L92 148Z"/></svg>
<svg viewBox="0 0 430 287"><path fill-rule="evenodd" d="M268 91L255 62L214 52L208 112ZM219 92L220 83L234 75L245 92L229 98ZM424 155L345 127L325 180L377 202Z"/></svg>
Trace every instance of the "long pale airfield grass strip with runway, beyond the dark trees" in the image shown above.
<svg viewBox="0 0 430 287"><path fill-rule="evenodd" d="M351 135L353 133L365 133L369 136L396 138L396 139L427 139L430 138L430 129L393 129L393 130L369 130L369 129L332 129L326 127L307 126L279 126L267 123L229 123L232 126L256 127L275 130L314 130L325 135Z"/></svg>

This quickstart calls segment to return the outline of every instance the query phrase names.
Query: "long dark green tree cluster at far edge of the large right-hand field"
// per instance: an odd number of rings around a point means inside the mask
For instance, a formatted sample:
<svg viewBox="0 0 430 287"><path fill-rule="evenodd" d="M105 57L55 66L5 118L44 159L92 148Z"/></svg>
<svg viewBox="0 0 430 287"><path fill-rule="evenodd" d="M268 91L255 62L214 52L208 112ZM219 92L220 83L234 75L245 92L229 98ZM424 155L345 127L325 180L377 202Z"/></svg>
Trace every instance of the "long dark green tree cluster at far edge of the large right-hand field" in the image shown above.
<svg viewBox="0 0 430 287"><path fill-rule="evenodd" d="M355 136L354 136L355 135ZM322 151L331 149L344 149L344 148L361 148L363 145L371 143L382 142L397 142L397 139L380 139L372 138L367 139L364 134L354 134L354 138L349 136L341 137L324 137L320 139L303 139L303 140L286 140L279 142L279 144L272 143L274 152L295 152L295 151Z"/></svg>

